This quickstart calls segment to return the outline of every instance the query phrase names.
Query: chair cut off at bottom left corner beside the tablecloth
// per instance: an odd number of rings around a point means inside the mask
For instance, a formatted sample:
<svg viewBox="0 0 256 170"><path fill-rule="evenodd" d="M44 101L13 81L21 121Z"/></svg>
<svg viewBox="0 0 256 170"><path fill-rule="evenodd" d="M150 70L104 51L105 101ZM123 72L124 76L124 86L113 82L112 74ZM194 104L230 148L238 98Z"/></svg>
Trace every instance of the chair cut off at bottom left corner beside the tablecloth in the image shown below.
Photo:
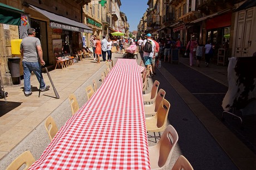
<svg viewBox="0 0 256 170"><path fill-rule="evenodd" d="M34 162L35 158L33 157L30 151L25 151L20 154L11 164L6 168L6 170L18 170L23 164L26 164L24 170L27 170Z"/></svg>

